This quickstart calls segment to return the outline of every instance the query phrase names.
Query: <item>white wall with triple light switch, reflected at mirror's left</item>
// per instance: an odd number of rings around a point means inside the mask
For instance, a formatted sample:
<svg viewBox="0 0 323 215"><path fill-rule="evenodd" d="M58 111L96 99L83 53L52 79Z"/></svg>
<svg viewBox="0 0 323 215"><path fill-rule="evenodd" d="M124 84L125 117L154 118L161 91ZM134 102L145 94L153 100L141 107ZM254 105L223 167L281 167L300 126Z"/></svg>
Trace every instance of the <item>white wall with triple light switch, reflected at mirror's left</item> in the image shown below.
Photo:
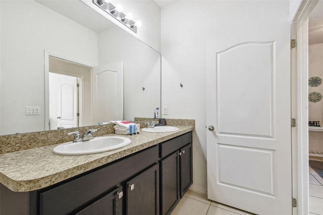
<svg viewBox="0 0 323 215"><path fill-rule="evenodd" d="M44 49L97 65L97 34L34 1L0 3L1 134L44 130Z"/></svg>

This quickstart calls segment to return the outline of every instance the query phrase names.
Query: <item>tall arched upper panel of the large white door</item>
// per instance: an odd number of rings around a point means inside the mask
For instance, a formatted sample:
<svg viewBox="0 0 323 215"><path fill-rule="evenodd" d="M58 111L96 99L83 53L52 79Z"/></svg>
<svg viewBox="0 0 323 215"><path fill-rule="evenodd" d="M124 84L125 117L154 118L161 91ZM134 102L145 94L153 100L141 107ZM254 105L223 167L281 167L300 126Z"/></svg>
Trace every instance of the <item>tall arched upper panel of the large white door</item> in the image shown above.
<svg viewBox="0 0 323 215"><path fill-rule="evenodd" d="M217 53L219 134L273 137L274 47L246 42Z"/></svg>

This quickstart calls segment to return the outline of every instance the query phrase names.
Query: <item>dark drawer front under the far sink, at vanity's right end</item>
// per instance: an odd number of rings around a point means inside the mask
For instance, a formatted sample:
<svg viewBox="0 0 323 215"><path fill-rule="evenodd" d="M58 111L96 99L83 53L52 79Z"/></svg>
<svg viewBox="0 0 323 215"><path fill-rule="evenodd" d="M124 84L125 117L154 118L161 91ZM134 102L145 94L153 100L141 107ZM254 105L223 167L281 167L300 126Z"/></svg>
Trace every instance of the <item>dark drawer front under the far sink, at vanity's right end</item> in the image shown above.
<svg viewBox="0 0 323 215"><path fill-rule="evenodd" d="M160 144L160 157L165 157L192 142L192 132L183 134Z"/></svg>

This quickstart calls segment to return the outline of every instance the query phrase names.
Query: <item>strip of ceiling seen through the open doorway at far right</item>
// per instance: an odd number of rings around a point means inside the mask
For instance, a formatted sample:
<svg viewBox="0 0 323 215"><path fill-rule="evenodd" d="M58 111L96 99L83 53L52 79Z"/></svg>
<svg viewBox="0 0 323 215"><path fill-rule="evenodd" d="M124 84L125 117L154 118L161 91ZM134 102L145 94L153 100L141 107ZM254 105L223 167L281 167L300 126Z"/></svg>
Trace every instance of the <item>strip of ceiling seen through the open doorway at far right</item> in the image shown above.
<svg viewBox="0 0 323 215"><path fill-rule="evenodd" d="M308 18L308 44L323 43L323 0L320 0Z"/></svg>

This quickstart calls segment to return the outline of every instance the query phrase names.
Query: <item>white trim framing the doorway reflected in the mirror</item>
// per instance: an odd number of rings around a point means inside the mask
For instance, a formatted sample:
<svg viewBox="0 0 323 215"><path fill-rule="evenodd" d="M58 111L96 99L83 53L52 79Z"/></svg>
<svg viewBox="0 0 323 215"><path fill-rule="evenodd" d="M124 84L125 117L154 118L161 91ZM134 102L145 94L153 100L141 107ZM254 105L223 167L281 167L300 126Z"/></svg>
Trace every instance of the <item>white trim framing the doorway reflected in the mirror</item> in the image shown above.
<svg viewBox="0 0 323 215"><path fill-rule="evenodd" d="M74 59L72 57L68 57L68 56L64 56L61 55L60 53L57 52L53 52L50 50L46 50L44 49L44 72L45 72L45 122L44 122L44 130L48 131L49 130L49 57L54 57L54 58L58 58L58 59L62 59L65 61L69 61L72 63L76 63L76 64L80 64L86 67L95 67L95 65L89 64L87 62L78 60L78 59ZM81 78L81 77L79 77ZM92 76L91 76L92 78ZM90 80L90 83L92 83L92 80ZM81 83L80 83L81 84ZM92 87L91 87L91 95L93 95L92 92ZM81 92L79 95L80 99L81 99ZM91 99L91 104L92 106L92 99ZM81 109L81 105L80 105L80 109Z"/></svg>

